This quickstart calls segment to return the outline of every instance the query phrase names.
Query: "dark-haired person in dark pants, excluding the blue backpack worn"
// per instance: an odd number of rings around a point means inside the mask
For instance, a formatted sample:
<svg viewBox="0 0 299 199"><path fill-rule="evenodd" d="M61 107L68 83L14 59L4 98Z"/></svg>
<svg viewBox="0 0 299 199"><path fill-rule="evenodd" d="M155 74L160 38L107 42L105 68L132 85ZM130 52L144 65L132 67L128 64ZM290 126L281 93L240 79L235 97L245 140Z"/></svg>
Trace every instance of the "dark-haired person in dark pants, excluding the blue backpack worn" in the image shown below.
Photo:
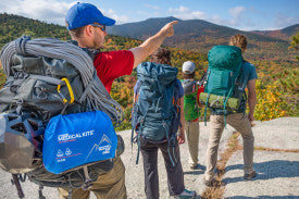
<svg viewBox="0 0 299 199"><path fill-rule="evenodd" d="M150 62L159 64L171 65L171 53L167 49L160 48L150 57ZM138 82L134 87L134 101L136 102L137 86ZM158 176L158 149L161 150L165 167L167 172L167 185L171 196L176 198L194 198L196 191L189 191L185 189L184 185L184 174L180 164L179 157L179 144L185 142L185 132L184 132L184 90L182 83L176 79L176 86L178 88L178 105L180 108L180 127L179 134L177 136L177 141L175 141L174 156L177 159L177 162L173 165L173 162L169 153L169 144L167 140L160 142L152 142L140 136L140 150L144 157L144 170L145 170L145 191L147 199L159 199L159 176ZM172 133L171 133L172 134Z"/></svg>

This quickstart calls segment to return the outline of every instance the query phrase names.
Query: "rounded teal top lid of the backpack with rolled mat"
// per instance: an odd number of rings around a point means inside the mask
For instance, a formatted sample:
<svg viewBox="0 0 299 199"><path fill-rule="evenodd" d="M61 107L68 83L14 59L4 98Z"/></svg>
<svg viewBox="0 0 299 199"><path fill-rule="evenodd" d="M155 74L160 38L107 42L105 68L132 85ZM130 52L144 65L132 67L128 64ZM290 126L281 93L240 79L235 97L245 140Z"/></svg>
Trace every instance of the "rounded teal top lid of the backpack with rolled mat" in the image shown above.
<svg viewBox="0 0 299 199"><path fill-rule="evenodd" d="M241 49L235 46L215 46L208 53L209 69L238 72L242 63Z"/></svg>

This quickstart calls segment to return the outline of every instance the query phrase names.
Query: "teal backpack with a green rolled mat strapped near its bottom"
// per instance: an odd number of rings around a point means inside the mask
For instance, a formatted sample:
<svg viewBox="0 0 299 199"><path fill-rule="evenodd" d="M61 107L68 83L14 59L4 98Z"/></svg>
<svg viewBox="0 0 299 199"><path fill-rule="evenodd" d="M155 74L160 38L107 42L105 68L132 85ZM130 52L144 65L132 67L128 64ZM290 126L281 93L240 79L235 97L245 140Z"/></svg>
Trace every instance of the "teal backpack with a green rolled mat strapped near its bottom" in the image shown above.
<svg viewBox="0 0 299 199"><path fill-rule="evenodd" d="M244 59L241 49L235 46L215 46L208 53L209 69L204 92L200 94L200 102L215 114L225 115L239 112L241 103L246 102L241 80Z"/></svg>

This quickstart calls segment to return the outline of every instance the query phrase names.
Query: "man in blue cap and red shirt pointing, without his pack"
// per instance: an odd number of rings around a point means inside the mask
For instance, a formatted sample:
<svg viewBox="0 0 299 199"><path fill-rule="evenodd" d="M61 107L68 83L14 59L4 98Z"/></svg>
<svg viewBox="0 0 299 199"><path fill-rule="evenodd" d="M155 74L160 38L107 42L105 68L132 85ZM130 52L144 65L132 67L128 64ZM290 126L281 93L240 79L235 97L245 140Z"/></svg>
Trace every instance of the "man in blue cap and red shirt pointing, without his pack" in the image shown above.
<svg viewBox="0 0 299 199"><path fill-rule="evenodd" d="M73 5L67 11L65 21L72 39L76 40L79 47L96 50L99 50L104 43L105 27L115 24L114 20L104 16L95 5L89 3L76 3ZM94 65L107 90L110 92L115 78L130 75L133 69L154 52L166 37L173 36L173 25L176 23L174 21L166 24L159 33L148 38L139 47L110 52L97 51L94 58ZM113 169L107 174L100 175L90 190L94 191L97 198L127 198L125 167L120 157L114 159ZM60 198L66 199L68 197L68 190L59 188L59 191ZM89 190L73 189L72 198L87 199L89 194Z"/></svg>

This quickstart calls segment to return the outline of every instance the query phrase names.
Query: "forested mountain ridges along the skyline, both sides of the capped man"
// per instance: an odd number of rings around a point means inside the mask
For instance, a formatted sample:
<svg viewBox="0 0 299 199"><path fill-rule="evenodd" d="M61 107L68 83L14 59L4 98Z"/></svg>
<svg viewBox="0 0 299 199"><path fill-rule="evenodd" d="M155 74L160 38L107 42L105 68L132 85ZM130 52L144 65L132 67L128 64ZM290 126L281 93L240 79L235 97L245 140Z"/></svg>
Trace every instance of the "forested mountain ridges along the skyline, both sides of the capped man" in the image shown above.
<svg viewBox="0 0 299 199"><path fill-rule="evenodd" d="M281 30L256 30L257 33L252 33L216 25L203 20L183 21L173 16L151 17L141 22L108 27L108 40L113 35L145 40L172 21L178 21L179 23L174 26L175 34L173 37L165 39L164 46L207 54L213 46L227 45L232 35L241 33L249 39L249 50L246 53L248 59L294 60L295 58L294 54L296 52L288 49L289 41L286 38L299 29L298 24ZM33 38L52 37L61 40L71 39L64 26L13 14L0 14L0 48L22 35L30 35Z"/></svg>

